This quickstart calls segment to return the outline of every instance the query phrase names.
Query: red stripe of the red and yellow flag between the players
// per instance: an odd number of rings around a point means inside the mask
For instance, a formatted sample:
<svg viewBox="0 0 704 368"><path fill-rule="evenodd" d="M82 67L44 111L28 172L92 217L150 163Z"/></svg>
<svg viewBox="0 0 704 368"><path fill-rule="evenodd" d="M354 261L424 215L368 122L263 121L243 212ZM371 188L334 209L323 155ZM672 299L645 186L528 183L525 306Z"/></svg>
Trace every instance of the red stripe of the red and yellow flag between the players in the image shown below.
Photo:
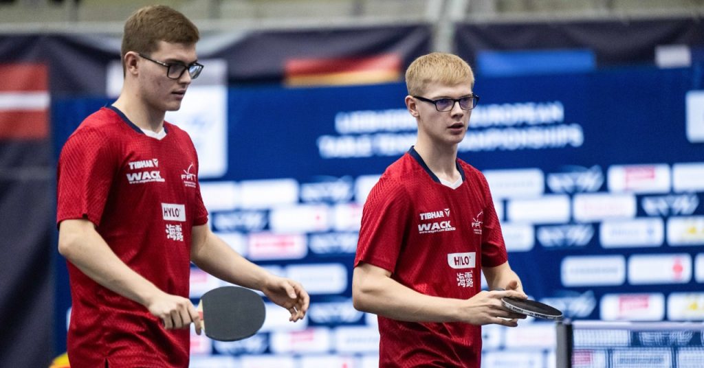
<svg viewBox="0 0 704 368"><path fill-rule="evenodd" d="M401 58L394 53L360 58L306 58L289 59L285 66L287 77L339 72L370 72L401 70Z"/></svg>

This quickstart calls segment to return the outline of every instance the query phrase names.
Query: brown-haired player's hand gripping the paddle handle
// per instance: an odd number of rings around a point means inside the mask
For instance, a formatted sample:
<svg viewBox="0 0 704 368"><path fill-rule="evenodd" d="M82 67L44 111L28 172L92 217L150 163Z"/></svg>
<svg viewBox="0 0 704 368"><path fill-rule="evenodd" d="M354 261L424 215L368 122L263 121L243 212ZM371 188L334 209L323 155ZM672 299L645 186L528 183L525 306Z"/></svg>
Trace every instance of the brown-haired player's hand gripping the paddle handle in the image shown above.
<svg viewBox="0 0 704 368"><path fill-rule="evenodd" d="M161 319L165 329L184 329L196 324L196 334L201 334L201 317L188 298L160 293L146 306L149 312Z"/></svg>

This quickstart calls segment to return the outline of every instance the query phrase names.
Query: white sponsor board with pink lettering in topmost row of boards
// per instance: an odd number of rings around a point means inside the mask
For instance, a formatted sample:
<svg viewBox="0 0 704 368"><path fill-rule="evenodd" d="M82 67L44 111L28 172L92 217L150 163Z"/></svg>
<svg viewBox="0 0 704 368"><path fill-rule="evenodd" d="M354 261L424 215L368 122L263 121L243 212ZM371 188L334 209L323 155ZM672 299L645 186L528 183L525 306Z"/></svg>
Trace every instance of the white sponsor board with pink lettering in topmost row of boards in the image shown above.
<svg viewBox="0 0 704 368"><path fill-rule="evenodd" d="M670 193L670 166L665 164L612 165L606 177L612 192Z"/></svg>

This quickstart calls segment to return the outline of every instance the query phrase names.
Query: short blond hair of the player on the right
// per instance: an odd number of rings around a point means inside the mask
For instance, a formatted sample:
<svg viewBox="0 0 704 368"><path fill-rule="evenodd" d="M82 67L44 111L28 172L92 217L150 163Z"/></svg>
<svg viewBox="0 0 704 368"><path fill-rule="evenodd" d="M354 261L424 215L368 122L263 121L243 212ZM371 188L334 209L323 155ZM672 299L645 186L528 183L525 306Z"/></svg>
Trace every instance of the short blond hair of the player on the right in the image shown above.
<svg viewBox="0 0 704 368"><path fill-rule="evenodd" d="M432 82L459 84L465 81L474 86L474 72L467 62L451 53L420 56L406 70L406 88L411 96L423 94L427 84Z"/></svg>

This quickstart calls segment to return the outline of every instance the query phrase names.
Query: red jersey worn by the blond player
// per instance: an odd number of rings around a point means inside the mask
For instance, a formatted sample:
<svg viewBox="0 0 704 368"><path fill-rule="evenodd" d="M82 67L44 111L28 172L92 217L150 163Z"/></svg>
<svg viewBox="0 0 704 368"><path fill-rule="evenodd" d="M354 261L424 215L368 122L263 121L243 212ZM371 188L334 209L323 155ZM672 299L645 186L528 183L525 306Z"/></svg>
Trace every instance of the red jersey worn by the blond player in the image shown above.
<svg viewBox="0 0 704 368"><path fill-rule="evenodd" d="M429 296L479 293L481 266L508 258L484 175L459 159L457 167L463 183L451 189L413 148L390 165L364 205L355 267L381 267ZM480 366L481 326L378 318L379 367Z"/></svg>

